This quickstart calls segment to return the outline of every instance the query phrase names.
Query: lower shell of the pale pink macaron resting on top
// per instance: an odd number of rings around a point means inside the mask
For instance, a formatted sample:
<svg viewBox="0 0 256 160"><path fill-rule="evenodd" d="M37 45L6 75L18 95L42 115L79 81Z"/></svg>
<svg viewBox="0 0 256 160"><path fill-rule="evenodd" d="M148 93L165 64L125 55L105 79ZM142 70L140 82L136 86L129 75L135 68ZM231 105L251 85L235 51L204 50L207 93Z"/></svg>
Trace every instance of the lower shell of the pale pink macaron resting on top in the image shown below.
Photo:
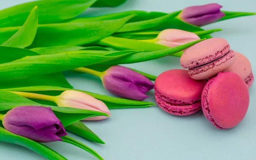
<svg viewBox="0 0 256 160"><path fill-rule="evenodd" d="M229 53L211 63L189 69L189 75L195 80L207 79L226 70L233 65L235 61L236 53L233 50L230 50Z"/></svg>

